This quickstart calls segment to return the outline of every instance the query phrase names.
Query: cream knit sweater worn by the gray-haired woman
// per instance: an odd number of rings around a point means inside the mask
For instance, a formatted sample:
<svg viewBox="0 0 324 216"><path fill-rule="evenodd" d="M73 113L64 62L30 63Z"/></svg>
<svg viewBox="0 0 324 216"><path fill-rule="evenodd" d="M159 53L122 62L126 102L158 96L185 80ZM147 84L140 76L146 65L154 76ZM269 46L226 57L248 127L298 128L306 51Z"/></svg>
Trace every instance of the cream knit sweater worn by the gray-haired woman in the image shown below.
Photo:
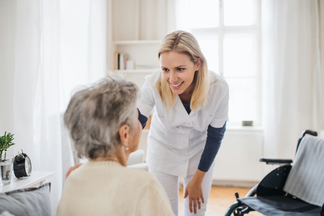
<svg viewBox="0 0 324 216"><path fill-rule="evenodd" d="M113 161L87 162L64 184L57 215L174 215L156 177Z"/></svg>

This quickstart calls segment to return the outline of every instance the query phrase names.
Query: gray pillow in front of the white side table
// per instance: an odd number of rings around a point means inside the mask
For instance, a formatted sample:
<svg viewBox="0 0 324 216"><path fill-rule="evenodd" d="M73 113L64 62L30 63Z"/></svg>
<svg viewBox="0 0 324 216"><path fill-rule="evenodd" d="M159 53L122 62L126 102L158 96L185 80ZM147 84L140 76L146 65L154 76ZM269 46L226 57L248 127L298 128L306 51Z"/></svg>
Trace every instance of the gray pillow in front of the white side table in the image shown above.
<svg viewBox="0 0 324 216"><path fill-rule="evenodd" d="M6 193L0 193L0 213L9 211L20 215L51 215L50 199L51 183L45 183L39 188L23 188Z"/></svg>

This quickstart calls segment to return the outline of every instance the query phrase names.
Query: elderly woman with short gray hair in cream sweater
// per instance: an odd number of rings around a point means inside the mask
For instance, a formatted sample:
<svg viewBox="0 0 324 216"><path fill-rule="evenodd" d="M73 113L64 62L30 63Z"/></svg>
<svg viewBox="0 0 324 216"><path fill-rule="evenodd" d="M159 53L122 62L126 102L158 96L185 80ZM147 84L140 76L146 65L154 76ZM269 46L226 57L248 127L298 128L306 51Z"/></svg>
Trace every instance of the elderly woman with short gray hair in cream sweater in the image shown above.
<svg viewBox="0 0 324 216"><path fill-rule="evenodd" d="M109 77L75 93L64 122L89 162L66 179L57 215L174 215L156 177L126 167L139 143L138 88Z"/></svg>

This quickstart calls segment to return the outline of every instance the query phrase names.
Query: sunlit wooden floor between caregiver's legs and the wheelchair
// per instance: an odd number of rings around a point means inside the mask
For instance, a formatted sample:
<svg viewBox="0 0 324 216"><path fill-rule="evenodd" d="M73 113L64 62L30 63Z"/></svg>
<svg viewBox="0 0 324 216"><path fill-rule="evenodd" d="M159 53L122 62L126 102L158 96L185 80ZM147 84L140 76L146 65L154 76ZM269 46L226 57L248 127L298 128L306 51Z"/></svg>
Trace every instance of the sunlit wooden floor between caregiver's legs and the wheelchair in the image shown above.
<svg viewBox="0 0 324 216"><path fill-rule="evenodd" d="M235 201L235 192L238 192L239 197L244 197L250 188L237 187L219 187L213 186L207 203L207 211L205 216L224 216L226 210ZM258 212L250 212L250 216L261 216ZM183 216L183 190L179 190L179 216Z"/></svg>

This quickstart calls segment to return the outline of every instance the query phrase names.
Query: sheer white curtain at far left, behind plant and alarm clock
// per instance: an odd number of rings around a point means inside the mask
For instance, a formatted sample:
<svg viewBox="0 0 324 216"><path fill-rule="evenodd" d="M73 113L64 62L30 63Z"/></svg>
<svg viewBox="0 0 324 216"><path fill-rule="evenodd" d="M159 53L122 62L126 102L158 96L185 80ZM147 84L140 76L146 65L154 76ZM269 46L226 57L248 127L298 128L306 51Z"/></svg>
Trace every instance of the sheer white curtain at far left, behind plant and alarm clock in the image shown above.
<svg viewBox="0 0 324 216"><path fill-rule="evenodd" d="M2 122L2 130L15 134L12 154L23 149L31 159L32 170L55 173L49 179L54 213L62 188L59 1L2 1L1 8L10 14L1 31L11 41L2 46L12 53L3 63L10 70L1 71L10 74L4 82L12 88L1 92L10 98L11 107L10 112L0 114L8 119ZM1 55L6 55L5 50Z"/></svg>

